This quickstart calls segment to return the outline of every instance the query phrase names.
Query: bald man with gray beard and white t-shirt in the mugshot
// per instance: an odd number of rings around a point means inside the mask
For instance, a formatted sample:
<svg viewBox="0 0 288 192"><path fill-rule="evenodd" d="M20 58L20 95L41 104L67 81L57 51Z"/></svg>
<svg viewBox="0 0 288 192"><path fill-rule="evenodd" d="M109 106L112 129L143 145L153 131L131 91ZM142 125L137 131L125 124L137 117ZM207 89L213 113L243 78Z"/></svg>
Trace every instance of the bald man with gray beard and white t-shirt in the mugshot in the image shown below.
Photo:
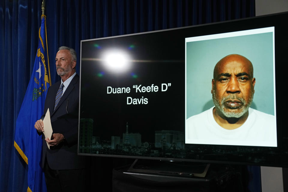
<svg viewBox="0 0 288 192"><path fill-rule="evenodd" d="M246 57L232 54L218 61L211 90L215 106L187 119L187 138L199 144L274 146L274 116L250 108L255 84Z"/></svg>

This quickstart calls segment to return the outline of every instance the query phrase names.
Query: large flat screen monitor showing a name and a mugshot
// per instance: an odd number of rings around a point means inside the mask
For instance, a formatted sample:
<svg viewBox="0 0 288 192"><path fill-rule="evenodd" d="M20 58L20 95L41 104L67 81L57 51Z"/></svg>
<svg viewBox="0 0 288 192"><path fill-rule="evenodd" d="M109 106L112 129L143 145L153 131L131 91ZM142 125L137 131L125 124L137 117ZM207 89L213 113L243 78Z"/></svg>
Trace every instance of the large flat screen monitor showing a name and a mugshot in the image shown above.
<svg viewBox="0 0 288 192"><path fill-rule="evenodd" d="M81 41L78 154L287 167L287 18Z"/></svg>

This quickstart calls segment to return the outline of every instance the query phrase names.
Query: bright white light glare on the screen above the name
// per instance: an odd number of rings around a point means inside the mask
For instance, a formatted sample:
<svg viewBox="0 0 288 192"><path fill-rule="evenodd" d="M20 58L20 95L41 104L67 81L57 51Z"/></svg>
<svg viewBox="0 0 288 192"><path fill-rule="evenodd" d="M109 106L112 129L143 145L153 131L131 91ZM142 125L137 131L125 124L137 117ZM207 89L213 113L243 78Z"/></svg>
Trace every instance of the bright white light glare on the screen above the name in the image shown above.
<svg viewBox="0 0 288 192"><path fill-rule="evenodd" d="M129 67L128 54L121 51L109 51L104 54L104 62L111 70L123 71Z"/></svg>

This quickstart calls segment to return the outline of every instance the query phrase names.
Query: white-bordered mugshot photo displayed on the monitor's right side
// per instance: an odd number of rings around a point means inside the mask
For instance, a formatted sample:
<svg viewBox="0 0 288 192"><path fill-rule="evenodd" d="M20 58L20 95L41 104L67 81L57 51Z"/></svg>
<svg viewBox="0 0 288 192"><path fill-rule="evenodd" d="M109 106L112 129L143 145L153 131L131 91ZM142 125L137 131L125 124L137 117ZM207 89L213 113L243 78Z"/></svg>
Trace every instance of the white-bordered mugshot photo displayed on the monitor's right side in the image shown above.
<svg viewBox="0 0 288 192"><path fill-rule="evenodd" d="M185 143L276 147L274 27L185 44Z"/></svg>

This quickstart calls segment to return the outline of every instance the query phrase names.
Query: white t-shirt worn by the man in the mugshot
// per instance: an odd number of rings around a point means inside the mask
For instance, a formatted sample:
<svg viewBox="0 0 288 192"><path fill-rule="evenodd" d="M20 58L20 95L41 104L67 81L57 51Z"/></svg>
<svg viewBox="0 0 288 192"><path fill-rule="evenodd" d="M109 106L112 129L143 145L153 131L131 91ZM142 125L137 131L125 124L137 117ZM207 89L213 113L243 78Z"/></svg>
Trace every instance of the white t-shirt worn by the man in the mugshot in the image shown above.
<svg viewBox="0 0 288 192"><path fill-rule="evenodd" d="M186 120L185 143L241 146L277 146L274 116L249 108L239 128L227 130L217 124L213 108Z"/></svg>

